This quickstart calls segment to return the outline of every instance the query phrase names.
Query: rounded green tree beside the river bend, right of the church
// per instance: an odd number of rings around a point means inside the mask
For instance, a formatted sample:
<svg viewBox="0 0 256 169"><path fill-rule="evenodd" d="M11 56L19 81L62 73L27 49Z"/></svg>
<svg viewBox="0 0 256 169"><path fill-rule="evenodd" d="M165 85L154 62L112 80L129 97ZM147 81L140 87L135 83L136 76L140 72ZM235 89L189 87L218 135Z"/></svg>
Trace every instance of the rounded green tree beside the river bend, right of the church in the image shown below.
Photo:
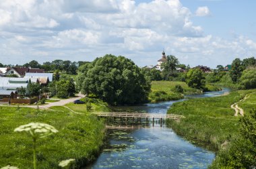
<svg viewBox="0 0 256 169"><path fill-rule="evenodd" d="M200 90L205 89L205 75L199 68L192 68L187 72L186 82L189 87Z"/></svg>

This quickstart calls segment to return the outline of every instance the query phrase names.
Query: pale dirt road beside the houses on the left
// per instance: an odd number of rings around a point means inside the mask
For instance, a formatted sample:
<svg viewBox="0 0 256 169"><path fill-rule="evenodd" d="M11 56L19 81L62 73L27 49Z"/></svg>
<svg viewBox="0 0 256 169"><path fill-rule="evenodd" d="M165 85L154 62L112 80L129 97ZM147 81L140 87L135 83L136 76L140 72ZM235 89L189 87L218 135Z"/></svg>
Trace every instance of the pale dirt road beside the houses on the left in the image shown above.
<svg viewBox="0 0 256 169"><path fill-rule="evenodd" d="M49 109L49 107L53 107L53 106L66 105L67 103L71 103L75 100L82 99L83 97L85 97L85 96L79 93L77 95L77 97L72 97L72 98L69 98L69 99L64 99L64 100L60 100L60 101L57 101L57 102L48 103L47 105L20 105L20 107L30 107L30 108L34 108L34 109L37 109L39 107L39 109ZM1 106L17 107L17 105L1 105Z"/></svg>

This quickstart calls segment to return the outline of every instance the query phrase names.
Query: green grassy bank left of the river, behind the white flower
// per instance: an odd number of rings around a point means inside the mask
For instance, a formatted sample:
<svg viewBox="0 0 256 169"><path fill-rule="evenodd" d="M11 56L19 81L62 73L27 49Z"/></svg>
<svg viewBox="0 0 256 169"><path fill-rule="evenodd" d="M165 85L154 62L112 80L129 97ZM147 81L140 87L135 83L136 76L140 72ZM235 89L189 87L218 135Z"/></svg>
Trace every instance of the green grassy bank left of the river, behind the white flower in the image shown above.
<svg viewBox="0 0 256 169"><path fill-rule="evenodd" d="M87 113L85 105L51 107L38 110L27 107L0 107L0 167L11 165L32 168L32 139L13 130L30 122L48 123L59 133L38 139L38 168L58 168L61 160L76 159L77 168L96 159L102 147L104 122ZM106 110L104 103L92 103L92 109Z"/></svg>

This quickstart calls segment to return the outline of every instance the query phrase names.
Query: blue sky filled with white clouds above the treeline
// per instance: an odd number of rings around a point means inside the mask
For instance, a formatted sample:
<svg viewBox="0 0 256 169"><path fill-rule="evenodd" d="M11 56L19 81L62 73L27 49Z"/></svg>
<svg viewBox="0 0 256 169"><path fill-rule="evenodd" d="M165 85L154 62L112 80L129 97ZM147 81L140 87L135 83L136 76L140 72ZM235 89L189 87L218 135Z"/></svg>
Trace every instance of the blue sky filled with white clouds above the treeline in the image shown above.
<svg viewBox="0 0 256 169"><path fill-rule="evenodd" d="M226 66L256 54L253 0L1 0L0 62L125 56L138 66L176 56Z"/></svg>

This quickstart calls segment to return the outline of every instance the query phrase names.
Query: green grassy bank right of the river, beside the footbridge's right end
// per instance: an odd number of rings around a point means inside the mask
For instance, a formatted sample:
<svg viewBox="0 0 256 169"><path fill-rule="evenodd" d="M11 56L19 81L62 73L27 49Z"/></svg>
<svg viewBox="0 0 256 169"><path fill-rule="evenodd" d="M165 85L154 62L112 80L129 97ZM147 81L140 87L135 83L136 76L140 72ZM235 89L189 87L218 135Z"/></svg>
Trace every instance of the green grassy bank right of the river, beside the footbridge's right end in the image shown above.
<svg viewBox="0 0 256 169"><path fill-rule="evenodd" d="M234 110L230 108L230 105L243 99L247 93L255 92L256 90L233 91L230 95L222 97L191 99L182 103L174 103L168 113L185 115L185 118L180 121L168 121L168 126L191 142L203 144L211 150L220 150L230 140L238 137L239 117L234 117ZM241 107L245 108L245 113L253 107L247 104L250 101L253 102L253 99L255 101L254 96L251 100L249 98L241 103ZM255 102L253 104L255 105Z"/></svg>

